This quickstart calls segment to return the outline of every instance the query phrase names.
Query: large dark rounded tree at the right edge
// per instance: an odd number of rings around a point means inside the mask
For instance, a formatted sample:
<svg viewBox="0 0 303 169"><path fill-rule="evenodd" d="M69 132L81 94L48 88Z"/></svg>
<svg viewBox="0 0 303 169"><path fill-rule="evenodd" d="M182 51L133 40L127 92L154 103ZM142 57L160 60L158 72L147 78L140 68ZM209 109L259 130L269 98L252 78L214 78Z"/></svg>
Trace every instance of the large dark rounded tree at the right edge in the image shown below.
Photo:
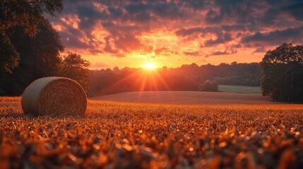
<svg viewBox="0 0 303 169"><path fill-rule="evenodd" d="M303 46L283 44L267 51L262 62L262 94L284 101L303 101Z"/></svg>

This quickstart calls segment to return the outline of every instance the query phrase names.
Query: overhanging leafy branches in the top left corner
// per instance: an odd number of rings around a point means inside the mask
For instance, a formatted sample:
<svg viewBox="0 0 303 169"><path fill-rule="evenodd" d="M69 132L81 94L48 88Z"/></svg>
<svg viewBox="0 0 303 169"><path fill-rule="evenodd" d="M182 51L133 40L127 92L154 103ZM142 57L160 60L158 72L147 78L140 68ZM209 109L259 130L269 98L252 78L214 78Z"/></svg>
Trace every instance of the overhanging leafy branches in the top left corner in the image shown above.
<svg viewBox="0 0 303 169"><path fill-rule="evenodd" d="M37 27L49 24L43 14L54 16L56 11L61 12L62 0L1 0L0 1L0 75L11 73L18 65L19 56L16 46L6 35L11 27L22 27L23 32L35 37ZM0 77L1 78L1 77Z"/></svg>

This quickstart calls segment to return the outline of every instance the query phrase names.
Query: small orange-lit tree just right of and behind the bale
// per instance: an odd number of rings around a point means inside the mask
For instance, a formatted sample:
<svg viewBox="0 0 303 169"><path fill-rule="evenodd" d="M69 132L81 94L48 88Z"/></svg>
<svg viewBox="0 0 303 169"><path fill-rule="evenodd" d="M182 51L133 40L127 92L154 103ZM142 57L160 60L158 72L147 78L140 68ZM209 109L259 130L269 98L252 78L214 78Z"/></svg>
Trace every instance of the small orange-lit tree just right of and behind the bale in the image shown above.
<svg viewBox="0 0 303 169"><path fill-rule="evenodd" d="M76 53L69 53L64 56L59 70L59 76L69 77L76 80L85 91L88 90L90 85L90 71L88 66L89 61L81 58L81 55Z"/></svg>

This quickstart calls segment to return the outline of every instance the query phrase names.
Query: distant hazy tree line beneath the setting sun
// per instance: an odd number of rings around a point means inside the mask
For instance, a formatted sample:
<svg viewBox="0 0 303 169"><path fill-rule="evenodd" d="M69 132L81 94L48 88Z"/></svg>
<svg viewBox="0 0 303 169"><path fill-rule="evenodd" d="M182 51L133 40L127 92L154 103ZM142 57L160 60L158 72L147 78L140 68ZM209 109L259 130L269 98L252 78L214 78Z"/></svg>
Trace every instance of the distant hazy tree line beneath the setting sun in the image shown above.
<svg viewBox="0 0 303 169"><path fill-rule="evenodd" d="M192 63L179 68L113 68L90 70L89 96L117 92L145 90L198 91L206 80L218 84L259 86L261 68L259 63L221 63L220 65L197 65Z"/></svg>

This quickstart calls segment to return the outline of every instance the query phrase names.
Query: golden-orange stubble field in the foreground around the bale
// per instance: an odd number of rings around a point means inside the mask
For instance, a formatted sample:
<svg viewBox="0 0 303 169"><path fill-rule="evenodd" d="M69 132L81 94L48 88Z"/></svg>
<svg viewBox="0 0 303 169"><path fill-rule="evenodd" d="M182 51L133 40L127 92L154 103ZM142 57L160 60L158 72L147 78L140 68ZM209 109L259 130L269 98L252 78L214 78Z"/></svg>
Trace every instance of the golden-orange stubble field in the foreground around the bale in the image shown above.
<svg viewBox="0 0 303 169"><path fill-rule="evenodd" d="M302 127L302 105L89 100L83 117L35 117L0 97L0 168L301 168Z"/></svg>

